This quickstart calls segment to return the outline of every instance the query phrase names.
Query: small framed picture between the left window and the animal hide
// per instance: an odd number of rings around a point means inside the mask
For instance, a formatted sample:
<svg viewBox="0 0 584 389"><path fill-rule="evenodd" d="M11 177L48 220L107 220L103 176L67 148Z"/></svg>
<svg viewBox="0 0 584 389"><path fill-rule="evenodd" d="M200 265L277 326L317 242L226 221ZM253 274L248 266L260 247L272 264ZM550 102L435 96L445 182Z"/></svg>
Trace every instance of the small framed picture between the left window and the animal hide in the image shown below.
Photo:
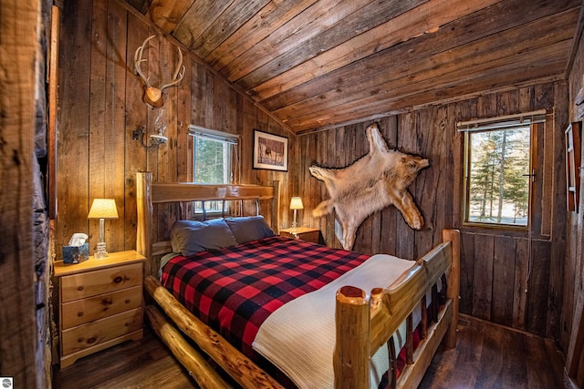
<svg viewBox="0 0 584 389"><path fill-rule="evenodd" d="M253 169L288 171L288 138L254 129Z"/></svg>

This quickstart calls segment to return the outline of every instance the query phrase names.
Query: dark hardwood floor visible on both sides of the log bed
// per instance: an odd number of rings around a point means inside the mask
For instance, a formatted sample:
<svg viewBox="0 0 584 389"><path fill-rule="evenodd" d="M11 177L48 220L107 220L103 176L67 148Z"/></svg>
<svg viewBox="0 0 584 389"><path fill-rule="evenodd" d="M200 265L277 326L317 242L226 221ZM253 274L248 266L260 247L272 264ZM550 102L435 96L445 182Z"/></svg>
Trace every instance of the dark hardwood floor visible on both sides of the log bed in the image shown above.
<svg viewBox="0 0 584 389"><path fill-rule="evenodd" d="M420 388L563 387L563 359L554 343L462 317L457 346L439 350ZM148 328L127 342L78 360L54 374L55 388L192 388L193 379Z"/></svg>

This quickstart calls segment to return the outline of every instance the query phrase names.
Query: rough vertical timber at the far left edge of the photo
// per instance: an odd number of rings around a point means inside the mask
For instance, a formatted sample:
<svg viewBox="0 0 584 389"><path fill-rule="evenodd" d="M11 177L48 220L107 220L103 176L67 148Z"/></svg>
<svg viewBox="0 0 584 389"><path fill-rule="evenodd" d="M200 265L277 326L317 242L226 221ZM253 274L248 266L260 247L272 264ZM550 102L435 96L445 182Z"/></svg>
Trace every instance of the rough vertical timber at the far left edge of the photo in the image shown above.
<svg viewBox="0 0 584 389"><path fill-rule="evenodd" d="M38 339L36 328L34 268L36 96L43 93L36 85L42 56L34 26L40 17L38 1L0 5L0 87L10 90L0 97L0 376L31 388L50 379L44 376L45 350L38 347L45 339Z"/></svg>

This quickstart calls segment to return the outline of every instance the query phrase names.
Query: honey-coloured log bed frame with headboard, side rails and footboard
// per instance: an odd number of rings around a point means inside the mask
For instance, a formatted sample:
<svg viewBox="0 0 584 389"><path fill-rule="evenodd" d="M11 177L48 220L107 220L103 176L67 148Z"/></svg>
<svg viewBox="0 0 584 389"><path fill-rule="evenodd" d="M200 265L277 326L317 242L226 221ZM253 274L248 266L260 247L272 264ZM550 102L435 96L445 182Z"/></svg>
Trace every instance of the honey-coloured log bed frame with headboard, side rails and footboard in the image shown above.
<svg viewBox="0 0 584 389"><path fill-rule="evenodd" d="M136 247L142 255L151 256L170 252L167 241L153 242L151 239L153 204L193 200L271 200L273 229L277 232L279 219L279 182L273 187L259 185L205 185L193 183L154 183L150 172L137 173L138 230ZM375 288L370 295L358 288L344 286L337 292L337 343L333 357L335 387L368 388L370 356L381 345L390 345L395 359L395 347L391 334L401 322L407 321L407 364L398 380L391 377L392 387L417 387L432 361L433 354L442 342L446 347L456 345L458 322L458 299L460 287L460 236L457 230L443 230L443 243L413 262L412 268L383 288ZM149 261L150 262L150 261ZM151 265L146 266L145 290L158 303L145 309L154 332L169 347L174 356L193 375L202 388L230 387L222 373L214 370L218 365L235 383L244 388L280 388L276 380L243 353L236 350L206 324L187 311L161 283L151 275ZM433 314L430 323L422 310L422 341L414 350L412 346L412 311L422 302L426 292L442 274L447 275L447 301L439 312ZM434 287L435 288L435 287ZM169 322L168 319L172 322ZM178 331L178 327L181 331ZM183 339L189 336L198 348ZM208 358L214 362L208 363ZM393 366L395 367L395 365ZM395 368L392 369L395 372Z"/></svg>

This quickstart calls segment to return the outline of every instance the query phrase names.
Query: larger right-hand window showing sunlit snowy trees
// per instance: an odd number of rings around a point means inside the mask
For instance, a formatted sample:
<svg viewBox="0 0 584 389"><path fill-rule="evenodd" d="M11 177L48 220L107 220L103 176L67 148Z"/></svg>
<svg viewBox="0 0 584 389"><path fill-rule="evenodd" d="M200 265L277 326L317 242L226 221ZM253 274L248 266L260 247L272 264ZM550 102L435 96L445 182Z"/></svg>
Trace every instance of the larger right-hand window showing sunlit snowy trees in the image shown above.
<svg viewBox="0 0 584 389"><path fill-rule="evenodd" d="M531 139L545 111L459 123L464 131L464 223L527 229Z"/></svg>

